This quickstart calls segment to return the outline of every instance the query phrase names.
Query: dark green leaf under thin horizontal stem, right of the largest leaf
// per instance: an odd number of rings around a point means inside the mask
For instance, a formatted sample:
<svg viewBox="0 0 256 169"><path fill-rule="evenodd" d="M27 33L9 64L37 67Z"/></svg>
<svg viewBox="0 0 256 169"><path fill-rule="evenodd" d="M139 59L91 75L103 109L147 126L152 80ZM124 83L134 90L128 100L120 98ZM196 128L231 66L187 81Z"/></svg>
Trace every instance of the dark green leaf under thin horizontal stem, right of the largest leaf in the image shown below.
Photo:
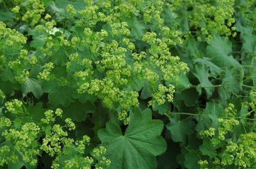
<svg viewBox="0 0 256 169"><path fill-rule="evenodd" d="M186 136L193 133L194 122L191 119L178 120L176 117L169 117L170 123L166 125L171 132L171 139L176 142L186 142Z"/></svg>

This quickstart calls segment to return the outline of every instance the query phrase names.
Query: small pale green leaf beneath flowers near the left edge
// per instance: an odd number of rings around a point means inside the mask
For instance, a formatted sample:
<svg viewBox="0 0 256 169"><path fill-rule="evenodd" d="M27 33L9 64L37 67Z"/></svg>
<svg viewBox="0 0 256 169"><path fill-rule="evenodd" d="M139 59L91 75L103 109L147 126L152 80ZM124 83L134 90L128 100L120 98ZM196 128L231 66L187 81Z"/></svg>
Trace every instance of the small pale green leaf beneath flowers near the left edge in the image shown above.
<svg viewBox="0 0 256 169"><path fill-rule="evenodd" d="M35 78L27 78L25 83L21 86L23 95L32 92L36 98L40 98L43 95L41 83Z"/></svg>

